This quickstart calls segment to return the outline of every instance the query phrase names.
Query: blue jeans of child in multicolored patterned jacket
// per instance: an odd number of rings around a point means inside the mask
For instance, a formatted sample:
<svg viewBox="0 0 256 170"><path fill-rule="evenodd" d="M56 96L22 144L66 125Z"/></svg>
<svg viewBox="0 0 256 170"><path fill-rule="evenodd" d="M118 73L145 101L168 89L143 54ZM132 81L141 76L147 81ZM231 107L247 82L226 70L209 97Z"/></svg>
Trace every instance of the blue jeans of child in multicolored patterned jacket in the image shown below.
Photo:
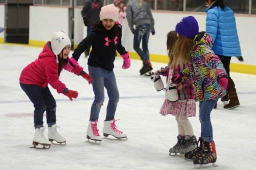
<svg viewBox="0 0 256 170"><path fill-rule="evenodd" d="M218 100L199 102L199 120L201 123L201 138L205 142L213 141L211 111Z"/></svg>

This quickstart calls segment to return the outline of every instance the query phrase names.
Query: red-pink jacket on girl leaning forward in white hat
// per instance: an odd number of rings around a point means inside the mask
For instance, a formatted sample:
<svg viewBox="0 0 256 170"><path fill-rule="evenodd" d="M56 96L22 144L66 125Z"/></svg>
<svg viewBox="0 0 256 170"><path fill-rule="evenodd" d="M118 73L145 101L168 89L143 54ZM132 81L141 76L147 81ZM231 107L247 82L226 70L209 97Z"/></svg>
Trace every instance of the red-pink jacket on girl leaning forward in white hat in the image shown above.
<svg viewBox="0 0 256 170"><path fill-rule="evenodd" d="M44 45L38 59L28 64L22 70L20 82L22 84L34 84L42 88L50 84L58 93L62 93L66 86L59 79L58 60L50 48L51 43L48 41L48 43ZM83 68L77 64L70 72L79 75L82 70Z"/></svg>

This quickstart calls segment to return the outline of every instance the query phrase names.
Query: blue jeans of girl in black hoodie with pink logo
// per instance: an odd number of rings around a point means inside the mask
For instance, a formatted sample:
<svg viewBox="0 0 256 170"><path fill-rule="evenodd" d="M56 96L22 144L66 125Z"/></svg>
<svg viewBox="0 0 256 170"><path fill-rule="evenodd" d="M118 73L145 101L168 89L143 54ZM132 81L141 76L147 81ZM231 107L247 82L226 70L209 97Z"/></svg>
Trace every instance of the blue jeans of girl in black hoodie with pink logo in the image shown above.
<svg viewBox="0 0 256 170"><path fill-rule="evenodd" d="M88 71L92 77L92 88L94 92L94 101L91 107L90 121L98 120L100 108L104 102L104 87L108 93L108 106L105 121L114 119L117 103L119 102L119 92L116 85L116 76L114 71L104 70L100 67L88 66Z"/></svg>

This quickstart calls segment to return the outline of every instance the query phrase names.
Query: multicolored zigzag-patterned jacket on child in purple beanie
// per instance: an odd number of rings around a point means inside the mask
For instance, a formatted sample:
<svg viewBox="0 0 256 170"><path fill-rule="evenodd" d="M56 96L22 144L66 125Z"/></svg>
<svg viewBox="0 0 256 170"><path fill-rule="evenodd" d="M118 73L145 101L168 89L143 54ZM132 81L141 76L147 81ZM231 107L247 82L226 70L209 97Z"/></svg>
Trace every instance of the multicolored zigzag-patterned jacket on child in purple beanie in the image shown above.
<svg viewBox="0 0 256 170"><path fill-rule="evenodd" d="M194 46L190 51L190 63L180 72L182 82L190 79L194 85L196 101L215 100L226 94L219 84L220 77L228 78L220 58L211 49L212 38L200 32L194 38Z"/></svg>

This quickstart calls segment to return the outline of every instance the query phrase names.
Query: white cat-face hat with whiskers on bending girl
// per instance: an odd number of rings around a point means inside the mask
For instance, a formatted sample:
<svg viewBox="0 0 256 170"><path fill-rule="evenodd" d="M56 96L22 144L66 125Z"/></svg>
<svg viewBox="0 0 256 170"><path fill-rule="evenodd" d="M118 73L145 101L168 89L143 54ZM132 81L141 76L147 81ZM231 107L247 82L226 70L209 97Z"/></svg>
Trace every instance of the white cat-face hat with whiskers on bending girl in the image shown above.
<svg viewBox="0 0 256 170"><path fill-rule="evenodd" d="M52 33L51 45L53 53L58 55L66 45L71 45L71 41L63 31L58 31Z"/></svg>

